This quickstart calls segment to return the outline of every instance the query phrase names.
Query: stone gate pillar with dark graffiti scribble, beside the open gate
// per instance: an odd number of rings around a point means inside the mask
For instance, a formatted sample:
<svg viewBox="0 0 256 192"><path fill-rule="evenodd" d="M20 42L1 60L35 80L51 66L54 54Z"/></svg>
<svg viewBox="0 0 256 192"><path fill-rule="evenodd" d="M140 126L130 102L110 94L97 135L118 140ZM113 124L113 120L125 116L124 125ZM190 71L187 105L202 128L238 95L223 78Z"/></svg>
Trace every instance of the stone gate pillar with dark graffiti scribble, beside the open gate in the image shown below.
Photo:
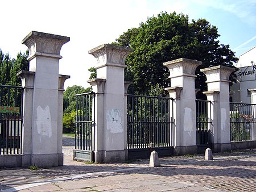
<svg viewBox="0 0 256 192"><path fill-rule="evenodd" d="M124 69L125 58L131 51L111 44L89 51L98 61L97 78L89 81L96 93L96 162L121 162L127 158Z"/></svg>

